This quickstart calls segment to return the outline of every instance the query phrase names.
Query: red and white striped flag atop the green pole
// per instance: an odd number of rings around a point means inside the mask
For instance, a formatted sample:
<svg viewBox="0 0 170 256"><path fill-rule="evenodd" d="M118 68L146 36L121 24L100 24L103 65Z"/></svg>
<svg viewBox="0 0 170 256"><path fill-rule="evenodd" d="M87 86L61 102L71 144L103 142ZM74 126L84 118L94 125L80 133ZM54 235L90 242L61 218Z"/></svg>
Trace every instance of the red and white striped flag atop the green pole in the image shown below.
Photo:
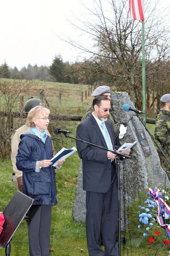
<svg viewBox="0 0 170 256"><path fill-rule="evenodd" d="M129 0L130 18L133 20L144 20L143 0Z"/></svg>

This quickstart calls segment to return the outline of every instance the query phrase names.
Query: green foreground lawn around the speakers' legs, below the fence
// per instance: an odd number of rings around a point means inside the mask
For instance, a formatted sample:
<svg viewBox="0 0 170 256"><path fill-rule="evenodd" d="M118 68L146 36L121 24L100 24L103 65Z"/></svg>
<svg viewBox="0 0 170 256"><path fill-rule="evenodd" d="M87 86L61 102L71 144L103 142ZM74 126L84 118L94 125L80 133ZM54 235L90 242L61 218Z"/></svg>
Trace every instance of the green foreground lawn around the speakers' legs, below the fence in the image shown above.
<svg viewBox="0 0 170 256"><path fill-rule="evenodd" d="M76 223L72 219L78 169L79 157L75 153L56 174L58 204L52 208L51 246L55 250L51 253L52 256L88 256L85 224ZM0 211L4 210L16 191L10 181L11 173L11 162L2 162L0 166ZM127 253L126 246L122 246L122 256L154 256L154 254L152 250L130 248L130 244L128 244ZM0 256L3 255L5 255L5 250L0 248ZM160 252L158 255L167 254ZM25 220L22 221L12 238L11 256L29 256L28 227Z"/></svg>

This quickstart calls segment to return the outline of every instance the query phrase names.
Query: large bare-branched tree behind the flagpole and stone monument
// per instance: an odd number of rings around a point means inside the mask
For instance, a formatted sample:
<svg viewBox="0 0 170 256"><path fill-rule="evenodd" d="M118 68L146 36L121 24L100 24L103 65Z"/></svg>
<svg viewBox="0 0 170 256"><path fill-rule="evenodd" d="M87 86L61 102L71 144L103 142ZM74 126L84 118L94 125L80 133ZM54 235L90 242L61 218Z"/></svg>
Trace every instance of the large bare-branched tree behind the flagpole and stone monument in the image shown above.
<svg viewBox="0 0 170 256"><path fill-rule="evenodd" d="M87 8L91 19L89 16L84 17L79 20L82 26L76 25L77 29L87 33L93 40L93 47L87 48L73 40L65 41L91 53L90 59L78 63L85 79L101 74L110 85L114 85L114 90L126 90L138 106L142 102L142 25L136 20L130 20L128 0L93 2L94 8ZM151 0L146 4L146 101L149 109L154 105L154 92L158 84L161 83L166 89L166 82L170 79L167 65L170 31L160 16L158 1Z"/></svg>

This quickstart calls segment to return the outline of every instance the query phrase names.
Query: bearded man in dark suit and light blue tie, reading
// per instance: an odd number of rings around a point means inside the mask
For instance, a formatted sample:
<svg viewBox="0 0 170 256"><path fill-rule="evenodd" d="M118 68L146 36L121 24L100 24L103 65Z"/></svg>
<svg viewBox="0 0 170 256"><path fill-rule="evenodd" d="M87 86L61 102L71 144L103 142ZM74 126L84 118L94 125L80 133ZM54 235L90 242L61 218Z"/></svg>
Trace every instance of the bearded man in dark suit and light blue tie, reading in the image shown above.
<svg viewBox="0 0 170 256"><path fill-rule="evenodd" d="M87 142L113 150L113 126L107 121L110 101L107 96L93 100L94 112L77 127L77 136ZM76 141L79 157L83 161L83 190L86 190L86 234L90 256L118 256L118 184L115 154L110 151ZM130 150L124 152L129 154Z"/></svg>

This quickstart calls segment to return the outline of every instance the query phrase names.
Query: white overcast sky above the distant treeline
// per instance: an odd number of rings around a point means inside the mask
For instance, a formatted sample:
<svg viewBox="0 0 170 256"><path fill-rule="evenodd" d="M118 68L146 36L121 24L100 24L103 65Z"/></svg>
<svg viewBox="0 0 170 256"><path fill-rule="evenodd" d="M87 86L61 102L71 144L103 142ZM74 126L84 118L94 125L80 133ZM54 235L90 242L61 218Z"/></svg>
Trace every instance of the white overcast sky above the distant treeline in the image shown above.
<svg viewBox="0 0 170 256"><path fill-rule="evenodd" d="M90 8L93 0L83 2ZM163 2L169 5L169 0ZM77 22L74 17L86 13L81 0L1 0L0 65L6 60L20 70L29 63L49 66L58 54L69 62L85 56L57 35L79 38L69 20Z"/></svg>

